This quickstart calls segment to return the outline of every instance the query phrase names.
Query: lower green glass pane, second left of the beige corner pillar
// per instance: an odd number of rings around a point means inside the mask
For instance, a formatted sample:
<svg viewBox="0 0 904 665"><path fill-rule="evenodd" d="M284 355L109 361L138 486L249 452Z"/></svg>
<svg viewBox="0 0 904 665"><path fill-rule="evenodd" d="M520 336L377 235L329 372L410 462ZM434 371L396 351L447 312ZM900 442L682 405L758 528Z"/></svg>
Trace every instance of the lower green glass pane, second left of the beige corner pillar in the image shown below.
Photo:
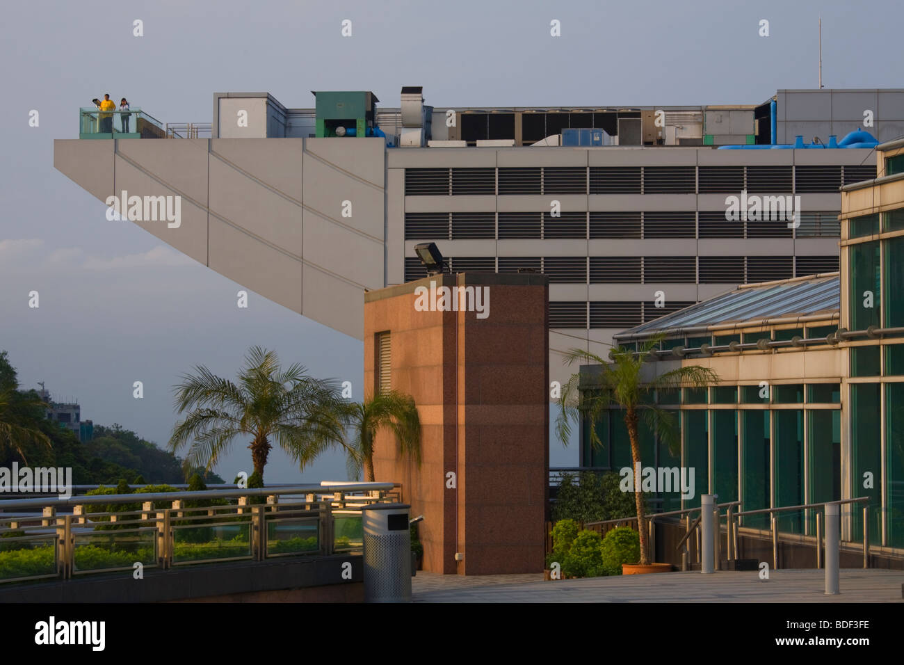
<svg viewBox="0 0 904 665"><path fill-rule="evenodd" d="M804 412L777 409L776 419L776 508L799 506L804 500ZM803 533L803 511L777 513L778 530Z"/></svg>

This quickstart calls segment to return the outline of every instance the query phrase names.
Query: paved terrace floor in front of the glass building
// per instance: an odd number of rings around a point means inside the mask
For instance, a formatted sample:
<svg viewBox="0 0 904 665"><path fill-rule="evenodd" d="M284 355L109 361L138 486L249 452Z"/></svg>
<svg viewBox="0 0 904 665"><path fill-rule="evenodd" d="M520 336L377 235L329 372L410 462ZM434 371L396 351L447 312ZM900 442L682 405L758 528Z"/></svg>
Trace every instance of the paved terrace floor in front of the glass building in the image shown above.
<svg viewBox="0 0 904 665"><path fill-rule="evenodd" d="M901 603L904 572L844 569L825 595L823 570L618 575L544 582L542 574L462 577L419 572L415 603Z"/></svg>

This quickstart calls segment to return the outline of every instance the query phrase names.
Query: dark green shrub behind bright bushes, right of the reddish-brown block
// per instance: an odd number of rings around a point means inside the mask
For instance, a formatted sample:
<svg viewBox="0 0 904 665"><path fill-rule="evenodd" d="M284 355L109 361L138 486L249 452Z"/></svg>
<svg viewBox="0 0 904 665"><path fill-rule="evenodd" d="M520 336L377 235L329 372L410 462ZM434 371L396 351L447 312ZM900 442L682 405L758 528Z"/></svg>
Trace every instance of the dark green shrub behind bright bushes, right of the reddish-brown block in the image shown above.
<svg viewBox="0 0 904 665"><path fill-rule="evenodd" d="M618 474L612 471L601 475L592 471L563 473L552 505L552 518L586 523L633 517L636 515L634 492L623 492L618 487L619 481ZM645 494L645 501L648 499L649 494Z"/></svg>

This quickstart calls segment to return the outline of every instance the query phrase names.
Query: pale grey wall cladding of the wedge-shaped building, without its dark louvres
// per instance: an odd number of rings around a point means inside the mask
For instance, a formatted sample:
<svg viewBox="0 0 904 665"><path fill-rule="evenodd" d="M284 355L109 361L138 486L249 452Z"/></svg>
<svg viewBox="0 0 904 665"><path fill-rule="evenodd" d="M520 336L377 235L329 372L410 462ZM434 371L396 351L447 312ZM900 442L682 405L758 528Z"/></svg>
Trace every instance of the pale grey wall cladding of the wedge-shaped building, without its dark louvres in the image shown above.
<svg viewBox="0 0 904 665"><path fill-rule="evenodd" d="M826 91L824 91L826 92ZM820 93L821 94L821 93ZM895 94L877 93L881 103ZM904 93L901 93L904 94ZM266 93L215 96L221 104L280 109ZM891 103L891 102L889 102ZM247 105L247 104L246 104ZM884 108L884 107L880 107ZM813 111L815 112L815 111ZM229 110L234 116L234 109ZM227 111L222 112L225 122ZM291 113L289 113L291 116ZM294 116L292 117L294 118ZM288 118L289 124L295 122ZM219 111L215 114L220 121ZM272 119L271 119L272 121ZM233 119L230 119L233 122ZM261 125L255 131L264 131ZM295 131L296 128L292 128ZM231 130L230 130L231 131ZM269 130L267 130L269 131ZM860 166L869 150L713 150L711 148L405 148L386 151L380 138L246 138L55 143L54 164L101 200L114 190L183 196L183 223L139 223L196 261L242 287L361 338L360 297L404 280L405 257L419 241L405 240L409 212L519 212L548 210L551 195L406 196L405 169L506 166ZM90 164L91 168L84 165ZM555 195L565 212L719 210L725 195ZM208 200L209 199L209 200ZM350 201L353 216L342 216ZM836 193L801 195L805 211L841 208ZM447 256L829 256L837 239L643 239L438 241ZM552 301L692 301L734 283L552 284ZM570 369L560 352L572 347L605 354L619 328L551 331L552 379Z"/></svg>

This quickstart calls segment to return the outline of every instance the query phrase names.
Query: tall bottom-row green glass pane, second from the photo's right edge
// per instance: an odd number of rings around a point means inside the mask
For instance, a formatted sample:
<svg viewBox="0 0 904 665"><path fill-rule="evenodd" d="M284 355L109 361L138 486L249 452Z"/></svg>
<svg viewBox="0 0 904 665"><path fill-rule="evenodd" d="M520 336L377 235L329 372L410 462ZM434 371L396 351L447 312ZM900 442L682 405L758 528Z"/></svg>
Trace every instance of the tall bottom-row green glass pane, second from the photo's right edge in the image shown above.
<svg viewBox="0 0 904 665"><path fill-rule="evenodd" d="M879 384L851 384L851 455L854 497L869 497L870 542L879 543L880 460ZM864 487L867 485L867 487ZM853 539L863 539L862 505L853 508Z"/></svg>

